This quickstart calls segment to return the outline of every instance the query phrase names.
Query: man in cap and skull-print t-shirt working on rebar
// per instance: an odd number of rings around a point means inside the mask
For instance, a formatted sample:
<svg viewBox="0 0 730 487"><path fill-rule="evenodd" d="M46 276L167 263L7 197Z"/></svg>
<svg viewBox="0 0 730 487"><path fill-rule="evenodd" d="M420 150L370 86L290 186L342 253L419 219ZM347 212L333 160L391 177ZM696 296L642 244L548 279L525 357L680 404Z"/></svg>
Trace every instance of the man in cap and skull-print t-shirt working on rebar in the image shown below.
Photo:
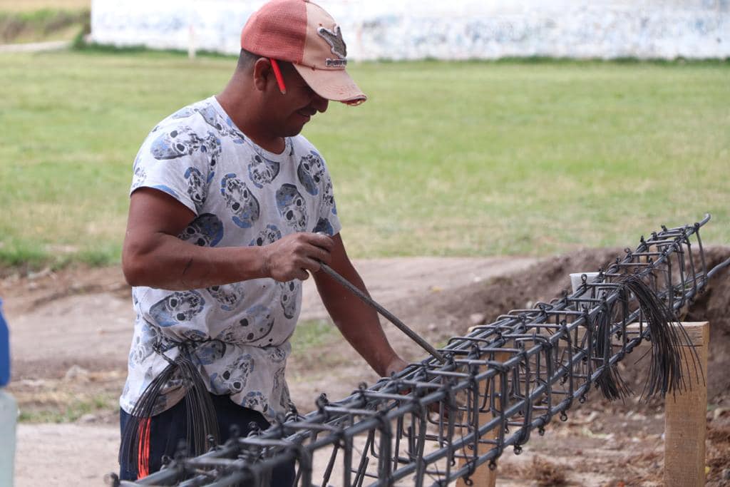
<svg viewBox="0 0 730 487"><path fill-rule="evenodd" d="M345 72L339 26L307 0L275 0L248 20L241 45L226 88L163 120L134 164L122 256L137 311L120 398L123 479L159 469L180 440L201 450L191 438L216 423L222 442L233 424L246 434L287 412L288 339L309 273L377 373L406 366L374 310L318 272L326 263L365 290L339 236L325 161L299 135L328 100L366 99ZM273 483L291 483L291 472Z"/></svg>

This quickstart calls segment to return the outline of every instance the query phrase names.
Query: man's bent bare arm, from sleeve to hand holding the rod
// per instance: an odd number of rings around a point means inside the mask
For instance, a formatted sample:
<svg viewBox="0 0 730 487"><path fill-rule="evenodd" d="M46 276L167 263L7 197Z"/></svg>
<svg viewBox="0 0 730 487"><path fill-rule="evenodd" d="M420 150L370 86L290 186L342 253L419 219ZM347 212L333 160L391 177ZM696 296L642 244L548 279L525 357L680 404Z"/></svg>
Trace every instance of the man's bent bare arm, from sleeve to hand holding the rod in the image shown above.
<svg viewBox="0 0 730 487"><path fill-rule="evenodd" d="M183 291L259 277L307 279L320 261L331 261L334 242L320 234L291 234L264 247L199 247L177 237L194 218L162 191L134 191L122 250L127 282Z"/></svg>

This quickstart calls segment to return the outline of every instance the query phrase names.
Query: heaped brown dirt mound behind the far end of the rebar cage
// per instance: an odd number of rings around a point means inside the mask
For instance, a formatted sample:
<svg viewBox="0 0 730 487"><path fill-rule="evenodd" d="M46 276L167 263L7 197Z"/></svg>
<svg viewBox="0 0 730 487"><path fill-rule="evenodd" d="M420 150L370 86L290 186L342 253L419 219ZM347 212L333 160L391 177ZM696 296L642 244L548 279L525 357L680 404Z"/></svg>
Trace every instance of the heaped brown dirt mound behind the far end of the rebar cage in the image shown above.
<svg viewBox="0 0 730 487"><path fill-rule="evenodd" d="M550 302L564 291L570 291L571 272L596 271L623 255L619 248L604 248L547 258L523 272L423 296L410 304L401 304L399 311L403 315L418 317L413 318L414 321L431 323L427 333L431 334L431 340L439 342L466 334L469 326L491 323L510 310L534 307L537 302ZM705 258L710 270L730 258L730 247L707 248ZM730 376L726 374L730 369L730 267L713 276L691 305L685 321L710 322L708 399L718 402L723 394L730 397L727 392ZM646 363L648 360L642 360L626 373L625 378L634 384L634 391L641 391Z"/></svg>

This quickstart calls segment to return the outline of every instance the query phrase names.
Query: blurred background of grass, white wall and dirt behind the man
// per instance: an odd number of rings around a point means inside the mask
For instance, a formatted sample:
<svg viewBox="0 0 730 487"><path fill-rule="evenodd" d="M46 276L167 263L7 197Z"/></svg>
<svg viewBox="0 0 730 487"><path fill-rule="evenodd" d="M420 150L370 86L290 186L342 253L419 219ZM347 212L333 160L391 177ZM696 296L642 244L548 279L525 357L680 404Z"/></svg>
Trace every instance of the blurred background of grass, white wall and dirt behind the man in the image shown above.
<svg viewBox="0 0 730 487"><path fill-rule="evenodd" d="M730 256L729 0L318 3L341 24L369 100L330 104L304 135L328 161L342 237L374 296L431 342L549 300L567 272L597 269L662 224L709 212L712 262ZM158 121L223 88L261 4L0 0L0 296L21 412L18 485L99 485L116 468L134 318L119 266L132 162ZM510 287L510 272L534 273L534 295ZM716 421L730 421L724 279L702 304L719 323ZM305 307L293 394L309 405L374 380L317 304ZM313 353L323 347L332 353ZM602 426L588 409L592 419L551 437L551 454L618 455L606 435L623 428L639 435L622 447L639 471L617 457L566 485L661 474L661 404L626 408ZM723 485L730 424L717 428L725 440L708 447L708 479ZM74 453L80 442L90 456ZM528 467L504 485L534 485Z"/></svg>

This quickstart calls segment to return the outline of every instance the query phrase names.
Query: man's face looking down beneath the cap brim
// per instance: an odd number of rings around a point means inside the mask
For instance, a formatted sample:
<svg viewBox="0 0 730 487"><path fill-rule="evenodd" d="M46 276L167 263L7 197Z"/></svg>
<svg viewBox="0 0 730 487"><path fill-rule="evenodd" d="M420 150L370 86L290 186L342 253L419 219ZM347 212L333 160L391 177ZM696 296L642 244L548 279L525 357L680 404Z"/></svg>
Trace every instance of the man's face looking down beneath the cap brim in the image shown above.
<svg viewBox="0 0 730 487"><path fill-rule="evenodd" d="M272 130L279 137L293 137L301 132L304 124L318 112L325 112L328 100L312 91L309 85L299 76L296 69L288 63L279 63L286 86L282 94L274 83L274 90L267 100L268 117Z"/></svg>

